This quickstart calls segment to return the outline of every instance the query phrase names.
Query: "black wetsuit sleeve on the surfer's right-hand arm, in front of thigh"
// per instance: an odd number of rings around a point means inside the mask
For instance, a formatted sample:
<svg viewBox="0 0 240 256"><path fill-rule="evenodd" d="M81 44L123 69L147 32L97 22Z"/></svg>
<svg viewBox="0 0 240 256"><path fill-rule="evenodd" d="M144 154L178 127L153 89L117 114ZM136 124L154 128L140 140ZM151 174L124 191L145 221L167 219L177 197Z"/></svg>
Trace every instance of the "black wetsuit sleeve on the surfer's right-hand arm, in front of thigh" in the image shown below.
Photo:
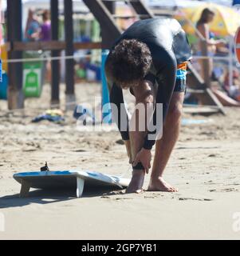
<svg viewBox="0 0 240 256"><path fill-rule="evenodd" d="M155 129L151 129L150 131L148 127L148 134L144 139L144 149L147 150L151 150L152 146L155 144L155 139L166 119L168 106L171 102L171 96L175 87L177 68L176 59L174 56L169 55L165 61L166 65L163 69L159 70L156 75L156 82L158 82L158 90L155 98L156 107L150 122L153 125L152 128L155 127ZM159 118L157 118L157 114L159 114L157 103L163 104L163 120L160 120L160 122L158 120Z"/></svg>

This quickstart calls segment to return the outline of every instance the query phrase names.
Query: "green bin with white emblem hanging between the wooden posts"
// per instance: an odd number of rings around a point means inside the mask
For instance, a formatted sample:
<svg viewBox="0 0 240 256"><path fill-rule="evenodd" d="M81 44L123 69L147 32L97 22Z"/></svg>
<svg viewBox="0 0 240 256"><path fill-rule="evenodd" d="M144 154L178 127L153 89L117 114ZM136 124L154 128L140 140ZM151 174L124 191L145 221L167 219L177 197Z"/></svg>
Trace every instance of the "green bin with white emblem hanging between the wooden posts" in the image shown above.
<svg viewBox="0 0 240 256"><path fill-rule="evenodd" d="M23 58L41 58L38 52L27 51ZM39 98L43 84L42 61L25 62L23 64L23 92L26 98Z"/></svg>

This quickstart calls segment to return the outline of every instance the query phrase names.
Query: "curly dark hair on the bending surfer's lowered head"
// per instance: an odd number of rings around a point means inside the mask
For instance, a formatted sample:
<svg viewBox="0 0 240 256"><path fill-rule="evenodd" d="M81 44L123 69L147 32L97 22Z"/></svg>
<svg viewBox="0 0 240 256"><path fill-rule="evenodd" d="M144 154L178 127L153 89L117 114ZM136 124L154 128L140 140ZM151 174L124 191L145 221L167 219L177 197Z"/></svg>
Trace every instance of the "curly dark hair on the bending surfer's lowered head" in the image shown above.
<svg viewBox="0 0 240 256"><path fill-rule="evenodd" d="M151 52L144 42L124 39L109 54L106 71L116 85L130 87L144 79L151 62Z"/></svg>

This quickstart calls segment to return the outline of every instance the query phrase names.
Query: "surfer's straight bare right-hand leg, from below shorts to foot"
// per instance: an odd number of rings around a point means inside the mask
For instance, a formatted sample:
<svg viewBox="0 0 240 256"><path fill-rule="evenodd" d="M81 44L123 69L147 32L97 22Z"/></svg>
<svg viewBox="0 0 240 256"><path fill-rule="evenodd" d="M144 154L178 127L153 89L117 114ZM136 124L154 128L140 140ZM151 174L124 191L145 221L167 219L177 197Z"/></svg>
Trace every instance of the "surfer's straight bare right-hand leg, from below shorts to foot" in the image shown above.
<svg viewBox="0 0 240 256"><path fill-rule="evenodd" d="M171 98L166 122L163 126L163 137L156 141L155 157L151 171L148 190L175 192L173 186L163 180L163 171L179 138L184 93L174 93Z"/></svg>

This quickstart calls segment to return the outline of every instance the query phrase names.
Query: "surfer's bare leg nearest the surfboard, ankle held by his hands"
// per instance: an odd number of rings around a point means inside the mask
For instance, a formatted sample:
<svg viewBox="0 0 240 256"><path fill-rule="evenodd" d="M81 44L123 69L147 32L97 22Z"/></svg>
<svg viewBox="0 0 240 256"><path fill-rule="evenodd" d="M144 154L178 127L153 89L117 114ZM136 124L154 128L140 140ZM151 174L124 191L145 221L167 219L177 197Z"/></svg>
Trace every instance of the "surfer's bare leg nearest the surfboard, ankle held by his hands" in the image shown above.
<svg viewBox="0 0 240 256"><path fill-rule="evenodd" d="M152 104L155 100L155 93L153 86L150 82L144 81L142 85L137 86L133 89L133 92L136 97L136 104L138 103L144 103L144 106L147 106L147 104ZM146 136L146 131L140 131L139 130L139 120L141 122L145 122L140 117L140 112L135 111L135 113L132 115L132 120L130 122L130 128L133 125L133 122L136 123L136 129L130 129L129 137L131 142L131 151L132 151L132 160L136 158L136 154L142 149L144 145L144 138ZM140 193L143 190L144 186L144 177L145 177L145 170L135 170L133 168L132 170L132 180L126 190L126 193Z"/></svg>

